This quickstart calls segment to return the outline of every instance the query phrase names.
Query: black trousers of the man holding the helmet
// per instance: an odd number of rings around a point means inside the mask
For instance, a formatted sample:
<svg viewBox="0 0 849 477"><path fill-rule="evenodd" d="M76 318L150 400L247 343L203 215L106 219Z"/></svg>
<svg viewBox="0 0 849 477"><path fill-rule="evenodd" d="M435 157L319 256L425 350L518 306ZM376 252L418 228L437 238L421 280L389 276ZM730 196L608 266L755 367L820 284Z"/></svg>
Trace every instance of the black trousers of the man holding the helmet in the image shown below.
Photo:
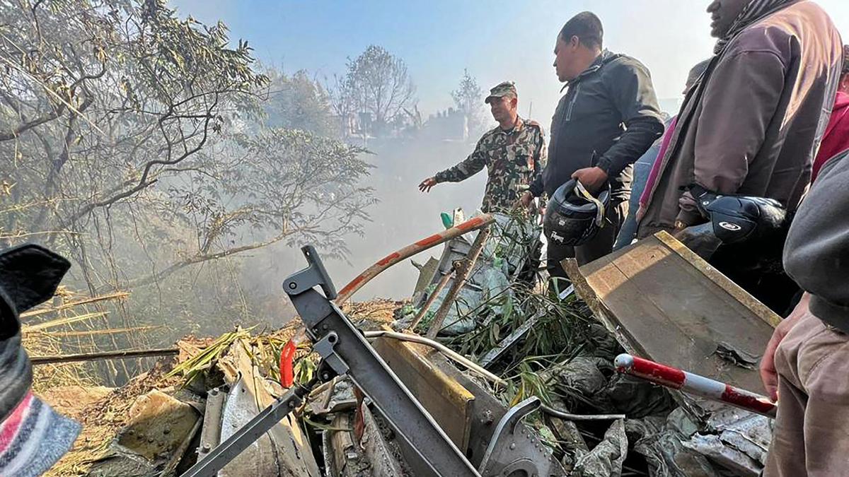
<svg viewBox="0 0 849 477"><path fill-rule="evenodd" d="M560 265L560 262L566 258L575 258L578 265L587 264L593 260L597 260L604 255L613 251L613 244L616 242L616 236L619 235L619 229L622 227L622 222L628 215L628 201L624 199L611 199L607 210L604 210L604 227L601 227L599 233L586 244L571 247L568 245L558 245L548 242L548 276L552 284L562 290L568 286L568 278L566 272ZM548 230L545 231L546 237L549 236ZM564 284L567 283L567 284Z"/></svg>

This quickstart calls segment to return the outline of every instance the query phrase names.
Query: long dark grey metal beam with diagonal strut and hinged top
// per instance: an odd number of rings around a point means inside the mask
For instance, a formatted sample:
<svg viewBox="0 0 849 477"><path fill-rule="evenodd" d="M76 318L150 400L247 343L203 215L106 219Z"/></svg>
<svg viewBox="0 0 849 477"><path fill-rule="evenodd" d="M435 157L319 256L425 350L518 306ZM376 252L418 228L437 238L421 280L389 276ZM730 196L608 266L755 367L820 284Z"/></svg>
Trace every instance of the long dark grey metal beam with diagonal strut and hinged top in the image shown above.
<svg viewBox="0 0 849 477"><path fill-rule="evenodd" d="M283 288L306 325L306 333L315 343L315 350L322 356L319 367L322 379L329 379L332 374L350 376L413 450L411 457L424 464L423 477L481 477L363 334L331 301L336 291L315 249L306 246L301 250L309 267L286 278ZM323 296L312 289L317 285L324 290ZM287 391L182 477L214 477L233 457L300 406L308 388L317 380L313 379L306 387L295 386Z"/></svg>

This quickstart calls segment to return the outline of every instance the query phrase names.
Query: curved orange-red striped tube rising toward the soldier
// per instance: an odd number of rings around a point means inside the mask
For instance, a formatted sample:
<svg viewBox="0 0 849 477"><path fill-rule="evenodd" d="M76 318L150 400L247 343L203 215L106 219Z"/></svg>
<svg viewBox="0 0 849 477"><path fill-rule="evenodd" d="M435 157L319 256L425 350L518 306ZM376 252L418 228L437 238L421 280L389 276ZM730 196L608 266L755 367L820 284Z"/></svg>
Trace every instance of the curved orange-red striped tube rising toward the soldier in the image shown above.
<svg viewBox="0 0 849 477"><path fill-rule="evenodd" d="M495 222L495 217L490 214L481 214L480 216L470 218L456 227L451 227L440 233L434 233L433 235L430 235L430 237L425 237L414 244L409 244L402 249L386 255L379 261L376 261L371 267L366 268L364 272L357 275L357 278L351 280L351 283L346 284L345 288L341 289L339 295L336 296L336 305L341 306L342 303L345 303L349 298L351 298L351 295L356 293L358 289L363 288L363 285L368 283L372 278L377 277L385 269L395 265L399 261L408 259L409 257L424 250L428 250L431 247L435 247L438 244L443 244L448 240L463 235L464 233L486 227L492 222Z"/></svg>

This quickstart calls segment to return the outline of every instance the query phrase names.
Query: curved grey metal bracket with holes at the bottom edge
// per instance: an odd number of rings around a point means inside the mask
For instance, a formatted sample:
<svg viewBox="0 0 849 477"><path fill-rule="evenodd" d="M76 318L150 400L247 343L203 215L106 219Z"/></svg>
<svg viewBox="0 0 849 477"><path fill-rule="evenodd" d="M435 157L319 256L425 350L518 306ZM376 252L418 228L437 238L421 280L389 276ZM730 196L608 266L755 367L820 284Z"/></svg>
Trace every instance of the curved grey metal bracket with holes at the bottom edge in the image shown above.
<svg viewBox="0 0 849 477"><path fill-rule="evenodd" d="M521 423L523 418L540 406L539 398L529 397L504 414L495 428L495 433L492 434L492 441L486 447L481 461L481 475L521 475L523 477L565 475L551 451L526 428L525 424ZM529 448L528 440L533 443L532 448Z"/></svg>

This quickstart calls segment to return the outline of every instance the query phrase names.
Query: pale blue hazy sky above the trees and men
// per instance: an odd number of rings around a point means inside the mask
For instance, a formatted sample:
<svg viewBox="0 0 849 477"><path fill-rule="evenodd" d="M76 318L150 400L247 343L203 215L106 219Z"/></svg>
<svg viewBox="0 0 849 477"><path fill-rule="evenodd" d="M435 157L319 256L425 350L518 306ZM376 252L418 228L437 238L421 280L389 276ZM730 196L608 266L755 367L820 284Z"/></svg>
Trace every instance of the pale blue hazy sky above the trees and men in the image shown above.
<svg viewBox="0 0 849 477"><path fill-rule="evenodd" d="M263 62L319 78L341 73L348 57L377 44L407 62L424 115L451 106L464 68L481 87L516 81L520 114L548 128L560 85L551 63L559 28L592 10L605 47L649 67L659 98L678 98L689 67L711 54L708 0L538 0L273 2L178 0L181 14L223 20ZM849 36L849 2L821 0Z"/></svg>

